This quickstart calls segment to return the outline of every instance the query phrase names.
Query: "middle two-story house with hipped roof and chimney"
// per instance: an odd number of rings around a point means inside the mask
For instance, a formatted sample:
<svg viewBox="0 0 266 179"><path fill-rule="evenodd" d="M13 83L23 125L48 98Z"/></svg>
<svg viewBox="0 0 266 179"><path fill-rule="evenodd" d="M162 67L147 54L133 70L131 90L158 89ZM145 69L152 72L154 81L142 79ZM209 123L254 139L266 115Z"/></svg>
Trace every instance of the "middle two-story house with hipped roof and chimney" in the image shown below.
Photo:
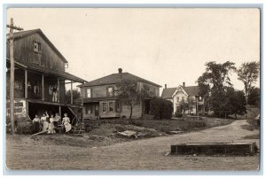
<svg viewBox="0 0 266 179"><path fill-rule="evenodd" d="M121 116L129 118L129 106L119 101L114 92L122 80L137 82L138 87L145 86L153 91L154 96L160 96L160 85L134 74L122 73L122 69L119 68L119 72L116 74L79 85L83 95L84 119L119 118ZM150 100L151 98L147 98L144 101L139 101L138 105L133 108L132 118L140 118L143 114L150 113Z"/></svg>

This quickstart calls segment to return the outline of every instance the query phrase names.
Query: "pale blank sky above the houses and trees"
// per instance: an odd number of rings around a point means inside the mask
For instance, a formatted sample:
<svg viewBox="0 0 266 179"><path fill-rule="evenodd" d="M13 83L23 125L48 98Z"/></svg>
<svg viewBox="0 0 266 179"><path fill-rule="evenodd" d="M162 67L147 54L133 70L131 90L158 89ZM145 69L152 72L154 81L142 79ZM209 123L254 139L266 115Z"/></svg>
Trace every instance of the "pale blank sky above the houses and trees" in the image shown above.
<svg viewBox="0 0 266 179"><path fill-rule="evenodd" d="M11 17L24 30L40 28L68 61L66 72L89 82L121 67L161 92L196 85L208 61L260 60L258 9L11 8ZM237 74L231 81L244 89Z"/></svg>

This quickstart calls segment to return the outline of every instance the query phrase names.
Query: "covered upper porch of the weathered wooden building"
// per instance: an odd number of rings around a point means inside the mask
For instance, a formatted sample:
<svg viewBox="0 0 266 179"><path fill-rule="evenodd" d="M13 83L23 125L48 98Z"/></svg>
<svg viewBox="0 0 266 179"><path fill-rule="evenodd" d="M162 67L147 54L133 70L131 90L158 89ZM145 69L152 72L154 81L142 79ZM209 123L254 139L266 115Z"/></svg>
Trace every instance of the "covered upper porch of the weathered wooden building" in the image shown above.
<svg viewBox="0 0 266 179"><path fill-rule="evenodd" d="M6 98L9 99L9 60L7 60L6 67ZM71 100L68 102L68 104L74 105L73 85L76 82L83 84L86 81L74 76L73 74L68 74L64 71L55 72L54 70L50 69L40 69L39 66L25 66L18 62L15 62L15 98L25 98L32 100L41 100L43 102L66 104L66 84L70 84ZM55 87L57 91L56 100L54 97L53 87Z"/></svg>

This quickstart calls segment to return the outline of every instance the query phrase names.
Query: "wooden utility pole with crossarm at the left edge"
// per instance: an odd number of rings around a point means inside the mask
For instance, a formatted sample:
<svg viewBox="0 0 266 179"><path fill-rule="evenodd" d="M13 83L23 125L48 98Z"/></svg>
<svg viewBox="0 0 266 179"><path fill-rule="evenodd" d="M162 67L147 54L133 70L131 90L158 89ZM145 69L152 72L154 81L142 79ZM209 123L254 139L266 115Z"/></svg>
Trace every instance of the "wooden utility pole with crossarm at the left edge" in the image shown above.
<svg viewBox="0 0 266 179"><path fill-rule="evenodd" d="M12 135L15 134L15 119L14 119L14 69L15 69L15 63L14 63L14 36L13 36L13 30L23 30L23 28L15 27L13 24L13 19L11 19L11 24L6 25L6 27L10 28L10 33L7 38L7 41L9 42L10 47L10 119L12 124Z"/></svg>

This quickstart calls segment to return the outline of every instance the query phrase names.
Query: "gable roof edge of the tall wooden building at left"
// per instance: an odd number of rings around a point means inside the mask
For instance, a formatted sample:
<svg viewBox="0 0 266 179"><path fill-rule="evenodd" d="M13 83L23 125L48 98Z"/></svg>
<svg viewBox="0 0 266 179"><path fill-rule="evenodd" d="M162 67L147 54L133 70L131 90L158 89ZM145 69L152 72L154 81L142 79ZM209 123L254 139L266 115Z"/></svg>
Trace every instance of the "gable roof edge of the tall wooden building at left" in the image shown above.
<svg viewBox="0 0 266 179"><path fill-rule="evenodd" d="M24 38L24 37L26 37L26 36L28 36L28 35L33 35L33 34L35 34L35 33L39 33L40 35L42 35L43 36L43 38L45 39L45 41L47 42L47 43L49 43L50 44L50 46L51 46L51 48L59 55L59 57L60 58L62 58L63 59L63 61L65 62L65 63L68 63L67 62L67 60L66 60L66 58L60 53L60 51L51 43L51 41L47 38L47 36L46 35L44 35L43 34L43 31L40 29L40 28L37 28L37 29L33 29L33 30L25 30L25 31L20 31L20 32L15 32L14 34L13 34L13 36L14 36L14 40L16 40L16 39L20 39L20 38ZM9 34L8 34L9 35Z"/></svg>

